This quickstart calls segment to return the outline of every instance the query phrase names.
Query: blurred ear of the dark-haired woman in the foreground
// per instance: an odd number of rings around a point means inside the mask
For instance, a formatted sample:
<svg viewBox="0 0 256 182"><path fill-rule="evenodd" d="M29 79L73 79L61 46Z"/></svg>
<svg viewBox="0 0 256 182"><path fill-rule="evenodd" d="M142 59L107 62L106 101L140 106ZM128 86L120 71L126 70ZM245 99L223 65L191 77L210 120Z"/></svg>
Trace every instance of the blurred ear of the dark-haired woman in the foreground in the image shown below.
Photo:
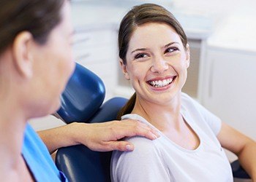
<svg viewBox="0 0 256 182"><path fill-rule="evenodd" d="M33 75L32 44L34 44L34 39L31 33L23 31L18 33L12 45L15 68L18 74L26 78L30 78Z"/></svg>

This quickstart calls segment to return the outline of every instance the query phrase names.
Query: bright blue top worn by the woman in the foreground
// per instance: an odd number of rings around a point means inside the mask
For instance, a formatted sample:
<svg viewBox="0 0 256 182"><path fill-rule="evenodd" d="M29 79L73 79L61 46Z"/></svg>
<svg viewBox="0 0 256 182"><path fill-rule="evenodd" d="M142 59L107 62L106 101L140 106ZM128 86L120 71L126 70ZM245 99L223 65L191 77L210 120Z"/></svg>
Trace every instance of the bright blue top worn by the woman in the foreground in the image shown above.
<svg viewBox="0 0 256 182"><path fill-rule="evenodd" d="M54 164L47 147L29 124L24 133L22 155L35 181L67 181L64 173Z"/></svg>

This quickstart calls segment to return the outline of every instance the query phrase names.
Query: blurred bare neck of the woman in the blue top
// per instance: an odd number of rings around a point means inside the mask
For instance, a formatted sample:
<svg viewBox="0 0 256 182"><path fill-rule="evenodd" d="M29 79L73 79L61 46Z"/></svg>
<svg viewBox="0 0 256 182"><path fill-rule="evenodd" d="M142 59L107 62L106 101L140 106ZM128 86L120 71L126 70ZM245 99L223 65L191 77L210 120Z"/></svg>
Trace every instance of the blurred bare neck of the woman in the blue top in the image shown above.
<svg viewBox="0 0 256 182"><path fill-rule="evenodd" d="M21 152L28 109L20 95L20 77L12 50L0 55L0 176L1 181L33 181Z"/></svg>

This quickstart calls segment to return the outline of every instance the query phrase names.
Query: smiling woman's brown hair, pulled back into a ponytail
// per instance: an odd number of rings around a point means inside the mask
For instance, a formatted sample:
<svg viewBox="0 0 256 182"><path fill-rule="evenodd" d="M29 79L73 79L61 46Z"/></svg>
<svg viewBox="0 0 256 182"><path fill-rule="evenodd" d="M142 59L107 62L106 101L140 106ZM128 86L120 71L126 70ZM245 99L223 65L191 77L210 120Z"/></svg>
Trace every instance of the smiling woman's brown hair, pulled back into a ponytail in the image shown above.
<svg viewBox="0 0 256 182"><path fill-rule="evenodd" d="M135 28L146 23L165 23L170 25L175 29L178 36L180 36L182 44L187 50L187 36L184 33L178 20L173 16L173 14L164 7L157 4L141 4L139 6L133 7L127 15L121 20L121 24L118 32L118 48L119 48L119 58L123 60L124 64L127 64L127 50L129 47L129 40L131 39L132 33ZM124 114L129 114L135 106L136 93L132 95L128 103L121 109L118 113L118 119Z"/></svg>

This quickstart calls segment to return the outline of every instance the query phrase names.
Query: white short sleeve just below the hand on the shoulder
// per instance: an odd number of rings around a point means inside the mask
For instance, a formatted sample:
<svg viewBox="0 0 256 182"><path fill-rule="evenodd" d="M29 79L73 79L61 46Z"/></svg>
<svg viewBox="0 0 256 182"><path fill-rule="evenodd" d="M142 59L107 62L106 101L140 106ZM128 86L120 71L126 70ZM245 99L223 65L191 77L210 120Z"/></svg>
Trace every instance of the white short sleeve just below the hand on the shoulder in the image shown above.
<svg viewBox="0 0 256 182"><path fill-rule="evenodd" d="M113 152L112 181L171 181L170 173L154 141L143 137L129 138L128 141L135 145L135 150Z"/></svg>

